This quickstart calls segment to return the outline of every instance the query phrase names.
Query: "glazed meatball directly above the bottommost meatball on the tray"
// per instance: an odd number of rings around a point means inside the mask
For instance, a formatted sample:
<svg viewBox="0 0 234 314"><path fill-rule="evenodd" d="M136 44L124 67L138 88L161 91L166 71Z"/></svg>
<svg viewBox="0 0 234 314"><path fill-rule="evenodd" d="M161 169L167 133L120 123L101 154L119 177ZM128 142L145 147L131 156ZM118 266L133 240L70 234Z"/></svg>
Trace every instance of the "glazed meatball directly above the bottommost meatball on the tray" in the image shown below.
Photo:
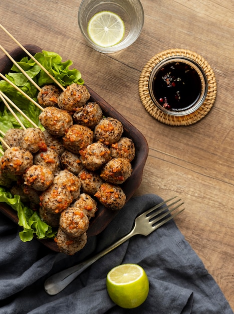
<svg viewBox="0 0 234 314"><path fill-rule="evenodd" d="M61 213L60 228L71 237L79 237L89 227L89 219L78 207L68 207Z"/></svg>

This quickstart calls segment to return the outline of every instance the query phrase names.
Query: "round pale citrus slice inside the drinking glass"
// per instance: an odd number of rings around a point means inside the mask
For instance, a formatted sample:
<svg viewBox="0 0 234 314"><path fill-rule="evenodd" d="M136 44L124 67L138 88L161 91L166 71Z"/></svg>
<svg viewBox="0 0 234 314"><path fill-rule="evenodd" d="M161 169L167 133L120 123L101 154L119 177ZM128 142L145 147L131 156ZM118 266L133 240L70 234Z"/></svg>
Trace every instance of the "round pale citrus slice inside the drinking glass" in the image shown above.
<svg viewBox="0 0 234 314"><path fill-rule="evenodd" d="M95 45L107 48L122 41L125 25L117 14L110 11L101 11L90 19L87 31Z"/></svg>

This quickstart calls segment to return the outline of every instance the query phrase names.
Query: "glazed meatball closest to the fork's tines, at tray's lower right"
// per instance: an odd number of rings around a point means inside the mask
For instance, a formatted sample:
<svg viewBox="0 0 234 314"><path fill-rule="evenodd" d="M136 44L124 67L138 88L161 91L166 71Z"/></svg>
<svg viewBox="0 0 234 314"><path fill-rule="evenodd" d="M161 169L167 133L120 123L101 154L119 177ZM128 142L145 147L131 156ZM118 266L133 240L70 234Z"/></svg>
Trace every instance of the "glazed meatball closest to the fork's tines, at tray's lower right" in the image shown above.
<svg viewBox="0 0 234 314"><path fill-rule="evenodd" d="M94 195L99 202L112 210L121 209L126 202L126 195L123 190L111 183L103 183Z"/></svg>

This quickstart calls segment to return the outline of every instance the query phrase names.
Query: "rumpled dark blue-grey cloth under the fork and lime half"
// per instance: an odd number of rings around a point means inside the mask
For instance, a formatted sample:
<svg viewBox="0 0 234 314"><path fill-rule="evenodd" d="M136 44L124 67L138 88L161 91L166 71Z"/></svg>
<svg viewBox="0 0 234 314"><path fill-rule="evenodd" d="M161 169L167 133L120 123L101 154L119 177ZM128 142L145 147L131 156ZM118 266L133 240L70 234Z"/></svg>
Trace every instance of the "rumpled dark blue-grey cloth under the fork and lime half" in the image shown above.
<svg viewBox="0 0 234 314"><path fill-rule="evenodd" d="M50 251L38 240L22 242L19 227L1 214L0 313L233 314L173 220L147 237L132 237L96 261L59 294L50 296L45 292L46 278L127 234L136 216L161 201L152 194L132 198L100 235L90 237L85 248L73 256ZM149 278L148 297L134 309L115 305L106 290L108 271L121 263L141 265Z"/></svg>

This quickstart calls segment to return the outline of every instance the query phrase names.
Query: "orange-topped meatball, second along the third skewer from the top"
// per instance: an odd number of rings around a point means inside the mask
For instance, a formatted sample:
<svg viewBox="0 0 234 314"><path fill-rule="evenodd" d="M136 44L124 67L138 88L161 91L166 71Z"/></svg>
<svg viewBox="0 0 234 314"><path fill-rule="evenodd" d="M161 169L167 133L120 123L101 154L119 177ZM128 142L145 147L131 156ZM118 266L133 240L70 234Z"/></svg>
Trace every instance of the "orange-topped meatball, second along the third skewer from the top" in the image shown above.
<svg viewBox="0 0 234 314"><path fill-rule="evenodd" d="M78 153L80 149L93 142L93 131L89 127L74 124L63 137L63 144L71 152Z"/></svg>

